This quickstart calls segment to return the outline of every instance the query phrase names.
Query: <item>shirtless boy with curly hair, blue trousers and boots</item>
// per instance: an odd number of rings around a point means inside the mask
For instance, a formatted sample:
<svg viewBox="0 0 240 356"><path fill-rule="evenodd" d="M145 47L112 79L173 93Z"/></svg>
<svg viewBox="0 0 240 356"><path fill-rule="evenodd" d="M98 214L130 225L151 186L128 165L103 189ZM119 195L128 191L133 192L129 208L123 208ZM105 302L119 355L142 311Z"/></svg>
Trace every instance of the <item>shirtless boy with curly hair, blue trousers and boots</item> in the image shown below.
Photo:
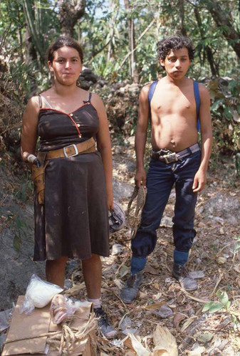
<svg viewBox="0 0 240 356"><path fill-rule="evenodd" d="M187 70L194 57L189 38L171 36L157 43L160 65L167 75L157 82L150 103L152 123L152 159L147 174L147 197L142 220L132 240L131 276L122 289L121 298L132 303L137 298L147 256L157 242L156 229L175 184L176 201L173 218L174 264L172 275L185 290L196 290L197 282L189 278L186 268L189 249L196 231L194 209L197 193L204 189L207 165L212 149L210 100L207 89L199 85L201 147L197 143L197 106L193 80ZM135 135L137 171L135 184L146 185L143 157L149 120L150 84L140 93L140 107ZM175 154L177 153L177 155Z"/></svg>

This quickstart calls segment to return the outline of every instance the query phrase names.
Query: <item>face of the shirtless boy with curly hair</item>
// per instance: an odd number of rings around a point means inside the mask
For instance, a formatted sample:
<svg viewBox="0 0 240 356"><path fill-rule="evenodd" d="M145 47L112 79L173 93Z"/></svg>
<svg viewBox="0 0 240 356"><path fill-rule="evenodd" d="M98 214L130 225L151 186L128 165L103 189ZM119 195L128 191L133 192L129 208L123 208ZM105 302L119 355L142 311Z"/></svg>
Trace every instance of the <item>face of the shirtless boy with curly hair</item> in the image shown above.
<svg viewBox="0 0 240 356"><path fill-rule="evenodd" d="M160 59L160 65L165 67L167 75L172 79L181 79L187 73L191 64L187 48L171 50L165 60Z"/></svg>

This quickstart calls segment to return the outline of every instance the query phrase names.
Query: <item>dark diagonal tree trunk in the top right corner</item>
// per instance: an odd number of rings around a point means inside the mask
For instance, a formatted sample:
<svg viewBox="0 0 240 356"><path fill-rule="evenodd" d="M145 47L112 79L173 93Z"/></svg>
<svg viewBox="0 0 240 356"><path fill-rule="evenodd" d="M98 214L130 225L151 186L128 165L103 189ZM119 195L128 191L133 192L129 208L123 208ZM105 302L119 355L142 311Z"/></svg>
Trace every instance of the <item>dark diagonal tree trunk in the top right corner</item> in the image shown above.
<svg viewBox="0 0 240 356"><path fill-rule="evenodd" d="M234 49L236 55L240 58L240 33L236 31L232 23L234 23L230 14L221 9L220 1L217 0L207 0L206 5L212 18L214 19L216 26L223 28L223 35L229 45Z"/></svg>

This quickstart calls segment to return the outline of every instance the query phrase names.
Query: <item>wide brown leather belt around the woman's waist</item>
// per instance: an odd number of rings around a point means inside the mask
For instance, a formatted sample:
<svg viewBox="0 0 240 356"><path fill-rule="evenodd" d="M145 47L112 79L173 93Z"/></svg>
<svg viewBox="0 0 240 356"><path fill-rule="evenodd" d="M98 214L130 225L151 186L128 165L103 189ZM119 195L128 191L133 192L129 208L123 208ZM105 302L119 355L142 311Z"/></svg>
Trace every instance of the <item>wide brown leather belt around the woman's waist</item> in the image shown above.
<svg viewBox="0 0 240 356"><path fill-rule="evenodd" d="M77 145L68 145L58 150L52 150L48 152L38 152L38 158L40 161L48 161L48 159L53 158L63 158L63 157L75 157L77 155L82 155L83 153L95 152L95 140L91 137L89 140L80 142Z"/></svg>

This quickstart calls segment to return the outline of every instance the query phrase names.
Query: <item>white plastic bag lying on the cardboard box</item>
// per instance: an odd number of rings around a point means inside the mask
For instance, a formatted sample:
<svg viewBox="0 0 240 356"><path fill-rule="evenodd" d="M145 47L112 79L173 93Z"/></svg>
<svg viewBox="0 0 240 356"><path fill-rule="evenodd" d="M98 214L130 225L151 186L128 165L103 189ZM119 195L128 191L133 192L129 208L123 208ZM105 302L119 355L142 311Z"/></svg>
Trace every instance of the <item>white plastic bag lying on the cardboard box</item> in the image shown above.
<svg viewBox="0 0 240 356"><path fill-rule="evenodd" d="M41 278L33 274L26 288L26 294L23 305L21 305L20 313L29 315L34 308L43 308L51 302L54 295L61 293L63 288L56 284L43 281Z"/></svg>

